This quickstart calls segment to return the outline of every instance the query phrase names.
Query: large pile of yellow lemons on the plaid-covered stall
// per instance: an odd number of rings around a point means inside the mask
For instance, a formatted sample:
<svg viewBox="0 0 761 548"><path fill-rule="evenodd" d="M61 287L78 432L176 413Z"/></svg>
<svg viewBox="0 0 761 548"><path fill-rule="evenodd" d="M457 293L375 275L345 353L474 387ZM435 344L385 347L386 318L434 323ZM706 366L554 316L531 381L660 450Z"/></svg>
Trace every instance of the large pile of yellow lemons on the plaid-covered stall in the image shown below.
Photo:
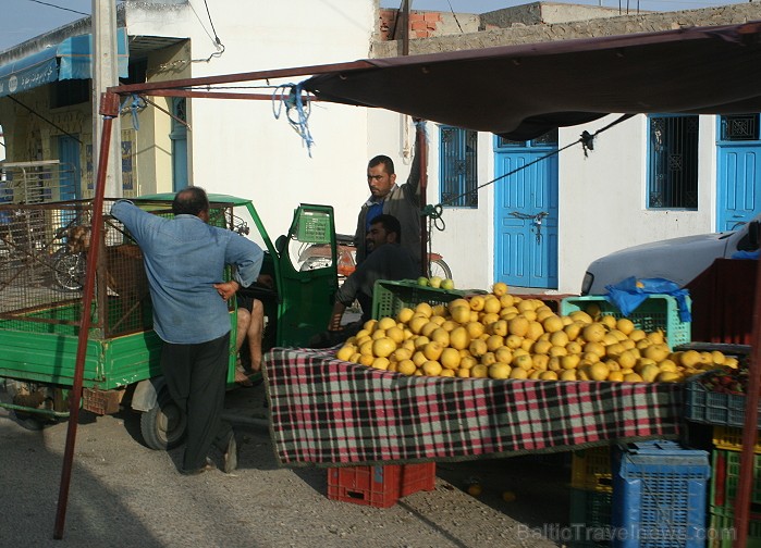
<svg viewBox="0 0 761 548"><path fill-rule="evenodd" d="M680 382L720 365L722 352L672 351L662 331L646 333L596 302L568 315L544 301L491 294L427 302L370 320L336 358L405 375L542 381Z"/></svg>

